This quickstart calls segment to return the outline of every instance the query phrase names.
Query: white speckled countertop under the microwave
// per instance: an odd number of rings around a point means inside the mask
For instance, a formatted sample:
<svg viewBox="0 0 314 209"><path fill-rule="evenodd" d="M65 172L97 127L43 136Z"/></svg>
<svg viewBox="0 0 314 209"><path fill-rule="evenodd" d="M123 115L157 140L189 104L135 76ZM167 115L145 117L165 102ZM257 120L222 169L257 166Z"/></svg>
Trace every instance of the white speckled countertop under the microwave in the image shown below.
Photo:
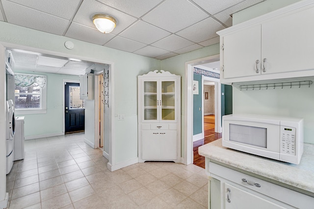
<svg viewBox="0 0 314 209"><path fill-rule="evenodd" d="M314 193L314 144L304 143L298 165L223 147L221 139L200 146L198 152L210 160Z"/></svg>

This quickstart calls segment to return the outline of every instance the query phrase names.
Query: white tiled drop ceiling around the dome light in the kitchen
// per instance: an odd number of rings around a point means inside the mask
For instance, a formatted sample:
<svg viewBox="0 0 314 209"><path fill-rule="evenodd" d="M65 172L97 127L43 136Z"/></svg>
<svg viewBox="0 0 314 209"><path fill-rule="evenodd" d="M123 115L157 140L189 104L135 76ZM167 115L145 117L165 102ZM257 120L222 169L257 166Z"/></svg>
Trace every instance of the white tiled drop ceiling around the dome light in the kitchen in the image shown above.
<svg viewBox="0 0 314 209"><path fill-rule="evenodd" d="M163 60L219 43L232 14L263 0L0 0L0 21ZM114 17L99 32L92 16Z"/></svg>

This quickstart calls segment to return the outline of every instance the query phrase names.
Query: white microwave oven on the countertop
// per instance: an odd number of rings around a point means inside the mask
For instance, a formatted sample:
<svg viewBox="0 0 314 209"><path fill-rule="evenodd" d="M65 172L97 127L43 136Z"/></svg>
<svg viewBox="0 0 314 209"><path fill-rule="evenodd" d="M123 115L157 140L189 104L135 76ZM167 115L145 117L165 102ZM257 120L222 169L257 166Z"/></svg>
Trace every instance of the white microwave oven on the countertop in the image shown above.
<svg viewBox="0 0 314 209"><path fill-rule="evenodd" d="M299 164L303 154L303 118L227 115L222 145L242 152Z"/></svg>

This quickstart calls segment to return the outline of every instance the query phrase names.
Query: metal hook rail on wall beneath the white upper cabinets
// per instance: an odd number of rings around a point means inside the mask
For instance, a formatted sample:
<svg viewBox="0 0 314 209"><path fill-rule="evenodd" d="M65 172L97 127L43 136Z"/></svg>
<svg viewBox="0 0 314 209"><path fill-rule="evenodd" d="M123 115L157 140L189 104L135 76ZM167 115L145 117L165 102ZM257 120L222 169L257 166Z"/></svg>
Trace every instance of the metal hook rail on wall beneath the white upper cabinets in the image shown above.
<svg viewBox="0 0 314 209"><path fill-rule="evenodd" d="M310 86L313 84L313 81L293 81L293 82L282 82L282 83L268 83L268 84L254 84L254 85L241 85L240 86L240 91L242 91L242 89L268 89L268 87L273 87L273 89L276 89L276 87L281 87L282 89L286 86L290 87L290 89L292 88L292 86L299 86L299 88L301 88L301 86Z"/></svg>

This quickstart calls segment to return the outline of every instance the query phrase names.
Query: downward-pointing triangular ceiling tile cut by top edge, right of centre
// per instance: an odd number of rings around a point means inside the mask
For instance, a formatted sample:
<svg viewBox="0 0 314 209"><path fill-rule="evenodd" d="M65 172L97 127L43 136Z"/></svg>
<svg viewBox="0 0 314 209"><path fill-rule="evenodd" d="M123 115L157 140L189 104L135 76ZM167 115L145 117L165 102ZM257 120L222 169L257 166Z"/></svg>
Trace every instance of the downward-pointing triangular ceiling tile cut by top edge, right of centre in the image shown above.
<svg viewBox="0 0 314 209"><path fill-rule="evenodd" d="M225 10L243 0L193 0L210 14L214 15L222 10Z"/></svg>

